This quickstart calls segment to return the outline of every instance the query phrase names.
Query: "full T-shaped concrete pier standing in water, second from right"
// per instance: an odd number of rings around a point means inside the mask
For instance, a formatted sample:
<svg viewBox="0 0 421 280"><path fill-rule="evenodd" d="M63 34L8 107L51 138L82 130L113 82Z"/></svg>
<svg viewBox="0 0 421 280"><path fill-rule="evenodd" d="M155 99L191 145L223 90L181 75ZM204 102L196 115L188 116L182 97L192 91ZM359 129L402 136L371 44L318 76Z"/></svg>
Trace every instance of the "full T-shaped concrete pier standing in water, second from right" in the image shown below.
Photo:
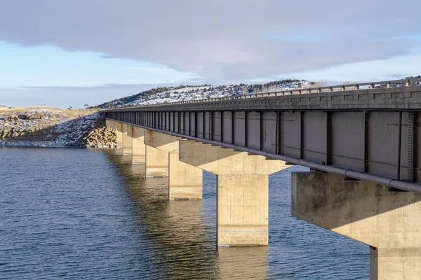
<svg viewBox="0 0 421 280"><path fill-rule="evenodd" d="M180 141L180 160L218 175L218 246L267 246L269 174L285 162L193 141Z"/></svg>

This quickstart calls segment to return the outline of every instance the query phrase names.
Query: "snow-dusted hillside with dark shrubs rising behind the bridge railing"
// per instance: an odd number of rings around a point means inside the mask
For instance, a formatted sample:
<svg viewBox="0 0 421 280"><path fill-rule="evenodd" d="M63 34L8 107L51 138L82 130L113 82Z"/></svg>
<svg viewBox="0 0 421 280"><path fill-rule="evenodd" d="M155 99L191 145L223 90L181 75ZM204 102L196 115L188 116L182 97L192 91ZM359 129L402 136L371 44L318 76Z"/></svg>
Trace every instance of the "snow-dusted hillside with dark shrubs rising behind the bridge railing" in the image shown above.
<svg viewBox="0 0 421 280"><path fill-rule="evenodd" d="M147 104L162 104L168 102L181 102L201 100L215 97L238 96L241 94L254 94L273 90L290 90L301 87L315 87L318 83L308 80L276 80L265 84L254 85L180 85L178 87L156 87L145 90L129 97L112 100L100 104L95 108L109 109L121 106L140 106Z"/></svg>

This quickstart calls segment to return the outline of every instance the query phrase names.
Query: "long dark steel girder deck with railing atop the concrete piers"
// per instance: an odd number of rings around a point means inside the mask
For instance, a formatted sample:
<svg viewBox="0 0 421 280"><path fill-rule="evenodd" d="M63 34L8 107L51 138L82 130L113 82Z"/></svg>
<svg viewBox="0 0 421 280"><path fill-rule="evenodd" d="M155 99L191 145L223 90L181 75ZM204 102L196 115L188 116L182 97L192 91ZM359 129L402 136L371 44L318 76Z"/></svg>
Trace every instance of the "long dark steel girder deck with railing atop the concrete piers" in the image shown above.
<svg viewBox="0 0 421 280"><path fill-rule="evenodd" d="M105 110L106 118L420 191L421 86Z"/></svg>

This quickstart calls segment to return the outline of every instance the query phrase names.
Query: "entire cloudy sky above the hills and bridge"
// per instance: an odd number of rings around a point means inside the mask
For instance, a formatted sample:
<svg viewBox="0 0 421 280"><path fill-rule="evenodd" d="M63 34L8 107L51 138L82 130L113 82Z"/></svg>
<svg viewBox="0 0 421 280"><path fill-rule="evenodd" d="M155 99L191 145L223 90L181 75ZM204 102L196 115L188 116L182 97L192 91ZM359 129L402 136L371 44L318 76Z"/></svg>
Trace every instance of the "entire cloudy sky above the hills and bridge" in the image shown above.
<svg viewBox="0 0 421 280"><path fill-rule="evenodd" d="M421 75L419 0L0 0L0 104Z"/></svg>

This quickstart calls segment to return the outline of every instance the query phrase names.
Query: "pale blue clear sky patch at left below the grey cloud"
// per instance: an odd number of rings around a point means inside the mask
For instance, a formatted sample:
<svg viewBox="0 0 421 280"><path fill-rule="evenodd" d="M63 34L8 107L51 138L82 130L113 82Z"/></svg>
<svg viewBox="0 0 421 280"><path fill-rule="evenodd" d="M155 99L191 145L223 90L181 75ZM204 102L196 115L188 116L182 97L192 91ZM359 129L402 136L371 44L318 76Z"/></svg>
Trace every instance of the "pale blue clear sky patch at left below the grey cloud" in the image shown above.
<svg viewBox="0 0 421 280"><path fill-rule="evenodd" d="M0 41L1 87L89 87L108 83L175 83L196 78L162 64L105 54L65 51L53 45L22 46Z"/></svg>

